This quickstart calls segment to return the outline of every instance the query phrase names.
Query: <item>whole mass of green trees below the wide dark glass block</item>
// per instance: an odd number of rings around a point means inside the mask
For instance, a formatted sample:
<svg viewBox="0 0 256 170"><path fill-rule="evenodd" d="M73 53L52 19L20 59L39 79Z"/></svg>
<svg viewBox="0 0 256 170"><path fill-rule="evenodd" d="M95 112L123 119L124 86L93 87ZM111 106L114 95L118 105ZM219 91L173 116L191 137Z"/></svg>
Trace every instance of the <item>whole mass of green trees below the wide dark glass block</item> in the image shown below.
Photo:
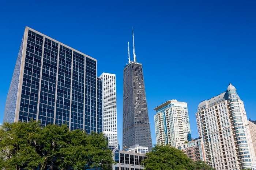
<svg viewBox="0 0 256 170"><path fill-rule="evenodd" d="M86 169L113 163L102 134L69 131L67 125L4 123L0 130L0 169Z"/></svg>

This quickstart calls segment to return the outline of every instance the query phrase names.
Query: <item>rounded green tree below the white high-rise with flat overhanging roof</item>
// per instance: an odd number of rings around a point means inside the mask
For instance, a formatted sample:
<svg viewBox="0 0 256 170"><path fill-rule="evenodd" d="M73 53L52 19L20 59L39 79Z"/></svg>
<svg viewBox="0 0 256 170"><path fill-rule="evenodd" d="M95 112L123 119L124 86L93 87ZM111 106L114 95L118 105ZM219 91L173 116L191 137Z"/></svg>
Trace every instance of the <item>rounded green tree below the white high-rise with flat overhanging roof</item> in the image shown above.
<svg viewBox="0 0 256 170"><path fill-rule="evenodd" d="M146 170L193 170L193 162L182 151L171 147L156 145L146 154L143 161Z"/></svg>

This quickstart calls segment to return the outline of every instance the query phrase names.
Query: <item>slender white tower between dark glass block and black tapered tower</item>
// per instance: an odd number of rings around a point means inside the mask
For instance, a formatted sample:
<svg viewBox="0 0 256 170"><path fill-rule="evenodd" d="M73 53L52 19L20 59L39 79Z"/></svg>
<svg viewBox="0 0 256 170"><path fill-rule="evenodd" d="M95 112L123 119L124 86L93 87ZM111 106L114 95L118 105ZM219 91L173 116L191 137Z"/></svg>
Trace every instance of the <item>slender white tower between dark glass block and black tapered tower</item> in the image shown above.
<svg viewBox="0 0 256 170"><path fill-rule="evenodd" d="M99 78L102 81L103 134L108 137L109 145L117 148L116 75L103 72Z"/></svg>

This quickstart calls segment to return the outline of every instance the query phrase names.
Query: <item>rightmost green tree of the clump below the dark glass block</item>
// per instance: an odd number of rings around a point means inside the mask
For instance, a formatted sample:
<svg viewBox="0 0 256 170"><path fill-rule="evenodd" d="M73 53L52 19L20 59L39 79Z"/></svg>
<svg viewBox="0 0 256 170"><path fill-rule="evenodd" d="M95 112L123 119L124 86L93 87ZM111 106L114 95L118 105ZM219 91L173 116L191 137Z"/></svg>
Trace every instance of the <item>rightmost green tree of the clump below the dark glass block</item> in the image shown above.
<svg viewBox="0 0 256 170"><path fill-rule="evenodd" d="M86 169L102 167L108 169L112 164L112 151L107 147L103 134L86 135L83 131L74 130L69 133L68 146L60 150L60 168Z"/></svg>

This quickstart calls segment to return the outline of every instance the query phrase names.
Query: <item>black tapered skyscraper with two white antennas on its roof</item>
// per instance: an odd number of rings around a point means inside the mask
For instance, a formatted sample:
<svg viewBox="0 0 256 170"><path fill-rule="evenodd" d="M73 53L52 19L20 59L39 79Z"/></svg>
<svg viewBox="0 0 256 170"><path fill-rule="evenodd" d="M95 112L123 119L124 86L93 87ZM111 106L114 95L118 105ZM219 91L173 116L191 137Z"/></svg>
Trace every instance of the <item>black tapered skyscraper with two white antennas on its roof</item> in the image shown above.
<svg viewBox="0 0 256 170"><path fill-rule="evenodd" d="M123 149L140 145L147 146L151 151L152 140L142 64L136 62L134 36L133 59L131 62L128 48L128 65L125 66L123 74Z"/></svg>

